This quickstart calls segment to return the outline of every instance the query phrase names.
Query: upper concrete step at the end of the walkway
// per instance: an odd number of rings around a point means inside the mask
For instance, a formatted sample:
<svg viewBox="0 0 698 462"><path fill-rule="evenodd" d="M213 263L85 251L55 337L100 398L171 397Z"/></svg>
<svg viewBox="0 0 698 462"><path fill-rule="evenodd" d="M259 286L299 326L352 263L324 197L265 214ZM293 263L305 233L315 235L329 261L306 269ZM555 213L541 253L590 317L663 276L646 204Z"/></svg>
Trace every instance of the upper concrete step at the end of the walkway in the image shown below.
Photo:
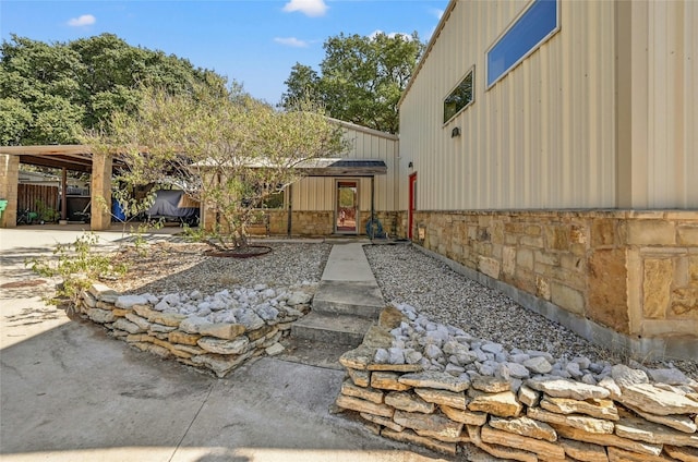
<svg viewBox="0 0 698 462"><path fill-rule="evenodd" d="M313 296L315 313L377 319L384 307L383 294L375 282L324 280Z"/></svg>

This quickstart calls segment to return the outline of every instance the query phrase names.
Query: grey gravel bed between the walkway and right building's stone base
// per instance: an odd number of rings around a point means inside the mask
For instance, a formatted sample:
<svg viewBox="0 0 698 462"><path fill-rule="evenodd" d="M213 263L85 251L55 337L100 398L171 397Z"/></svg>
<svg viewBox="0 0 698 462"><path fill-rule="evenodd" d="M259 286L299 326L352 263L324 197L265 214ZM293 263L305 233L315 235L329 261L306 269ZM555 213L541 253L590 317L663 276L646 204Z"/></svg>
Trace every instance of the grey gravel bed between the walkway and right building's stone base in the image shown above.
<svg viewBox="0 0 698 462"><path fill-rule="evenodd" d="M479 284L411 245L364 247L386 302L407 303L426 317L460 328L473 337L502 343L506 349L538 350L556 358L578 356L638 366L638 360L613 354L569 329ZM698 364L690 361L645 362L648 367L674 366L698 380Z"/></svg>

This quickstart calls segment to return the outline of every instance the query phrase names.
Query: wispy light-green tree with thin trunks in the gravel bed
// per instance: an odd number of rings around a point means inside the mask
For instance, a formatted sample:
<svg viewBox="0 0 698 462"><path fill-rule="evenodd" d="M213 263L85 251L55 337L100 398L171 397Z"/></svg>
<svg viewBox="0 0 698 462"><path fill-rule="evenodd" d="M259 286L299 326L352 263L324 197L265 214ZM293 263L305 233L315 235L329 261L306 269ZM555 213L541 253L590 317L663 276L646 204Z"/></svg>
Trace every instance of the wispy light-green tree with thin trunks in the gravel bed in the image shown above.
<svg viewBox="0 0 698 462"><path fill-rule="evenodd" d="M118 181L186 191L215 210L216 245L246 247L257 207L302 177L299 163L340 155L341 131L311 102L280 111L239 86L216 88L145 88L135 114L116 112L107 130L84 141L94 151L119 153L128 170Z"/></svg>

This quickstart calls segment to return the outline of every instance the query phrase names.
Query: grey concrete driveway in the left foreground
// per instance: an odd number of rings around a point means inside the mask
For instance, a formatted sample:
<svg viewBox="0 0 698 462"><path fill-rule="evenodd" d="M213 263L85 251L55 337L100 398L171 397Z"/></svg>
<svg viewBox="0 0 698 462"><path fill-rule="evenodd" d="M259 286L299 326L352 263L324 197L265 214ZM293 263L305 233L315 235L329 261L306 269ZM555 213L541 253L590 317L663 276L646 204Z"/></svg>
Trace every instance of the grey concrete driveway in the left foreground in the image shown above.
<svg viewBox="0 0 698 462"><path fill-rule="evenodd" d="M3 461L444 460L330 414L341 370L267 357L216 379L46 306L40 294L53 281L41 282L24 259L80 234L0 230ZM123 238L98 234L104 245Z"/></svg>

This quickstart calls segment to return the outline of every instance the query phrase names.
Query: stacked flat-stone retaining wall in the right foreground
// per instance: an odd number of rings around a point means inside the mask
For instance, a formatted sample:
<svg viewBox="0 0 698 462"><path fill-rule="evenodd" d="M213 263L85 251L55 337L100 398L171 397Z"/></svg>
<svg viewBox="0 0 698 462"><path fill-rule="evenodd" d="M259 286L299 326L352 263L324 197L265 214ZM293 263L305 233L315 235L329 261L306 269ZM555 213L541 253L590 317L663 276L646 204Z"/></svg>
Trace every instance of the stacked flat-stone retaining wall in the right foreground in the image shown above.
<svg viewBox="0 0 698 462"><path fill-rule="evenodd" d="M358 412L378 435L448 454L474 446L525 462L698 461L695 382L650 382L623 365L591 385L533 370L525 381L470 380L419 364L378 363L376 351L393 345L390 329L407 320L395 312L384 309L363 343L340 358L348 378L336 404Z"/></svg>

